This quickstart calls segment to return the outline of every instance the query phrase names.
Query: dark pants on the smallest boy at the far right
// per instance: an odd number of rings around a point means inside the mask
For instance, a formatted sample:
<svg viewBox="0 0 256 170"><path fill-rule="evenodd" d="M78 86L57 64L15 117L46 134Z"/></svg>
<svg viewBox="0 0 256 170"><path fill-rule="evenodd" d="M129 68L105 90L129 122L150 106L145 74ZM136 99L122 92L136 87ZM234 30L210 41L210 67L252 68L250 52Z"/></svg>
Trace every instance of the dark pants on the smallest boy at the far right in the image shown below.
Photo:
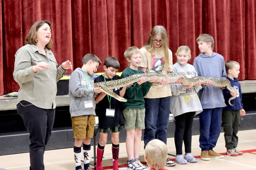
<svg viewBox="0 0 256 170"><path fill-rule="evenodd" d="M227 149L233 149L237 147L238 137L237 132L240 121L240 110L223 110L222 124L224 128L225 147Z"/></svg>

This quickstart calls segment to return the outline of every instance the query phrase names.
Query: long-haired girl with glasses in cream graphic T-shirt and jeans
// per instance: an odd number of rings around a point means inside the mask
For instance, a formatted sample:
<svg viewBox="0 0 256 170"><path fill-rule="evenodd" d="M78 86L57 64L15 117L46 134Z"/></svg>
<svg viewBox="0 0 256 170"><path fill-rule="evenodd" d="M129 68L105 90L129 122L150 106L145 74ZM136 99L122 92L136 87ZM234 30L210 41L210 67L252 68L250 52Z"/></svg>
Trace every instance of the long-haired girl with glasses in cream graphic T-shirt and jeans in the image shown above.
<svg viewBox="0 0 256 170"><path fill-rule="evenodd" d="M148 41L140 49L140 69L144 72L168 74L172 71L172 51L168 48L168 36L164 26L152 28ZM179 80L178 80L179 81ZM144 148L152 139L160 139L166 144L167 127L170 116L170 84L164 77L161 82L153 83L145 100ZM166 166L176 163L167 159Z"/></svg>

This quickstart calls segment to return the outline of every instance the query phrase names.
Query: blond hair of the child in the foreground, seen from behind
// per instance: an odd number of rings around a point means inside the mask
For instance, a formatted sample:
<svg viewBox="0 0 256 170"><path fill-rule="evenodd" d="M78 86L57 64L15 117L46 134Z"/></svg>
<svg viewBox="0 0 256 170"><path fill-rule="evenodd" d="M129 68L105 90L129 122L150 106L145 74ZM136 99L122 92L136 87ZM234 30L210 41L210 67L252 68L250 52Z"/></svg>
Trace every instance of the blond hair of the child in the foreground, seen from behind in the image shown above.
<svg viewBox="0 0 256 170"><path fill-rule="evenodd" d="M159 139L153 139L145 147L148 165L155 170L163 169L167 159L167 146Z"/></svg>

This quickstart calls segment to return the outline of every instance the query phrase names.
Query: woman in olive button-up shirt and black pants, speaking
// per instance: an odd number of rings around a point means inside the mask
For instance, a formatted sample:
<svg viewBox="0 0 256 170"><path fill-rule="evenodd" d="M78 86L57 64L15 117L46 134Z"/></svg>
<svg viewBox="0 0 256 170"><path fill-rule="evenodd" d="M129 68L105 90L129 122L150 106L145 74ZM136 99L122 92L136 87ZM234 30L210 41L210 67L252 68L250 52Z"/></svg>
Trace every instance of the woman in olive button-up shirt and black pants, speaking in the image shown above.
<svg viewBox="0 0 256 170"><path fill-rule="evenodd" d="M18 114L29 132L30 169L44 170L44 150L51 136L55 116L56 82L67 69L69 60L58 67L51 51L52 24L36 21L15 54L13 78L18 82Z"/></svg>

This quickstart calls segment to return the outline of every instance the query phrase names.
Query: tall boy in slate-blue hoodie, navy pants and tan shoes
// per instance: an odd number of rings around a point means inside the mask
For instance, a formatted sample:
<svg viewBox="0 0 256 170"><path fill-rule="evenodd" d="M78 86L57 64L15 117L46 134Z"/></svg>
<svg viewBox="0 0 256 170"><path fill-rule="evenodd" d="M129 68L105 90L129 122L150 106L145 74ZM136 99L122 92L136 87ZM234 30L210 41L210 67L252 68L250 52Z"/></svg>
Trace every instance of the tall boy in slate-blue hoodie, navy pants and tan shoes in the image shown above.
<svg viewBox="0 0 256 170"><path fill-rule="evenodd" d="M209 34L201 34L196 39L196 42L201 51L201 54L194 60L194 67L198 76L209 76L218 79L226 78L223 56L212 51L214 47L213 37ZM202 87L198 92L203 108L203 111L199 114L201 159L210 160L210 157L223 158L223 155L212 150L220 136L222 109L226 106L222 89L212 86L212 81L210 80L203 83Z"/></svg>

